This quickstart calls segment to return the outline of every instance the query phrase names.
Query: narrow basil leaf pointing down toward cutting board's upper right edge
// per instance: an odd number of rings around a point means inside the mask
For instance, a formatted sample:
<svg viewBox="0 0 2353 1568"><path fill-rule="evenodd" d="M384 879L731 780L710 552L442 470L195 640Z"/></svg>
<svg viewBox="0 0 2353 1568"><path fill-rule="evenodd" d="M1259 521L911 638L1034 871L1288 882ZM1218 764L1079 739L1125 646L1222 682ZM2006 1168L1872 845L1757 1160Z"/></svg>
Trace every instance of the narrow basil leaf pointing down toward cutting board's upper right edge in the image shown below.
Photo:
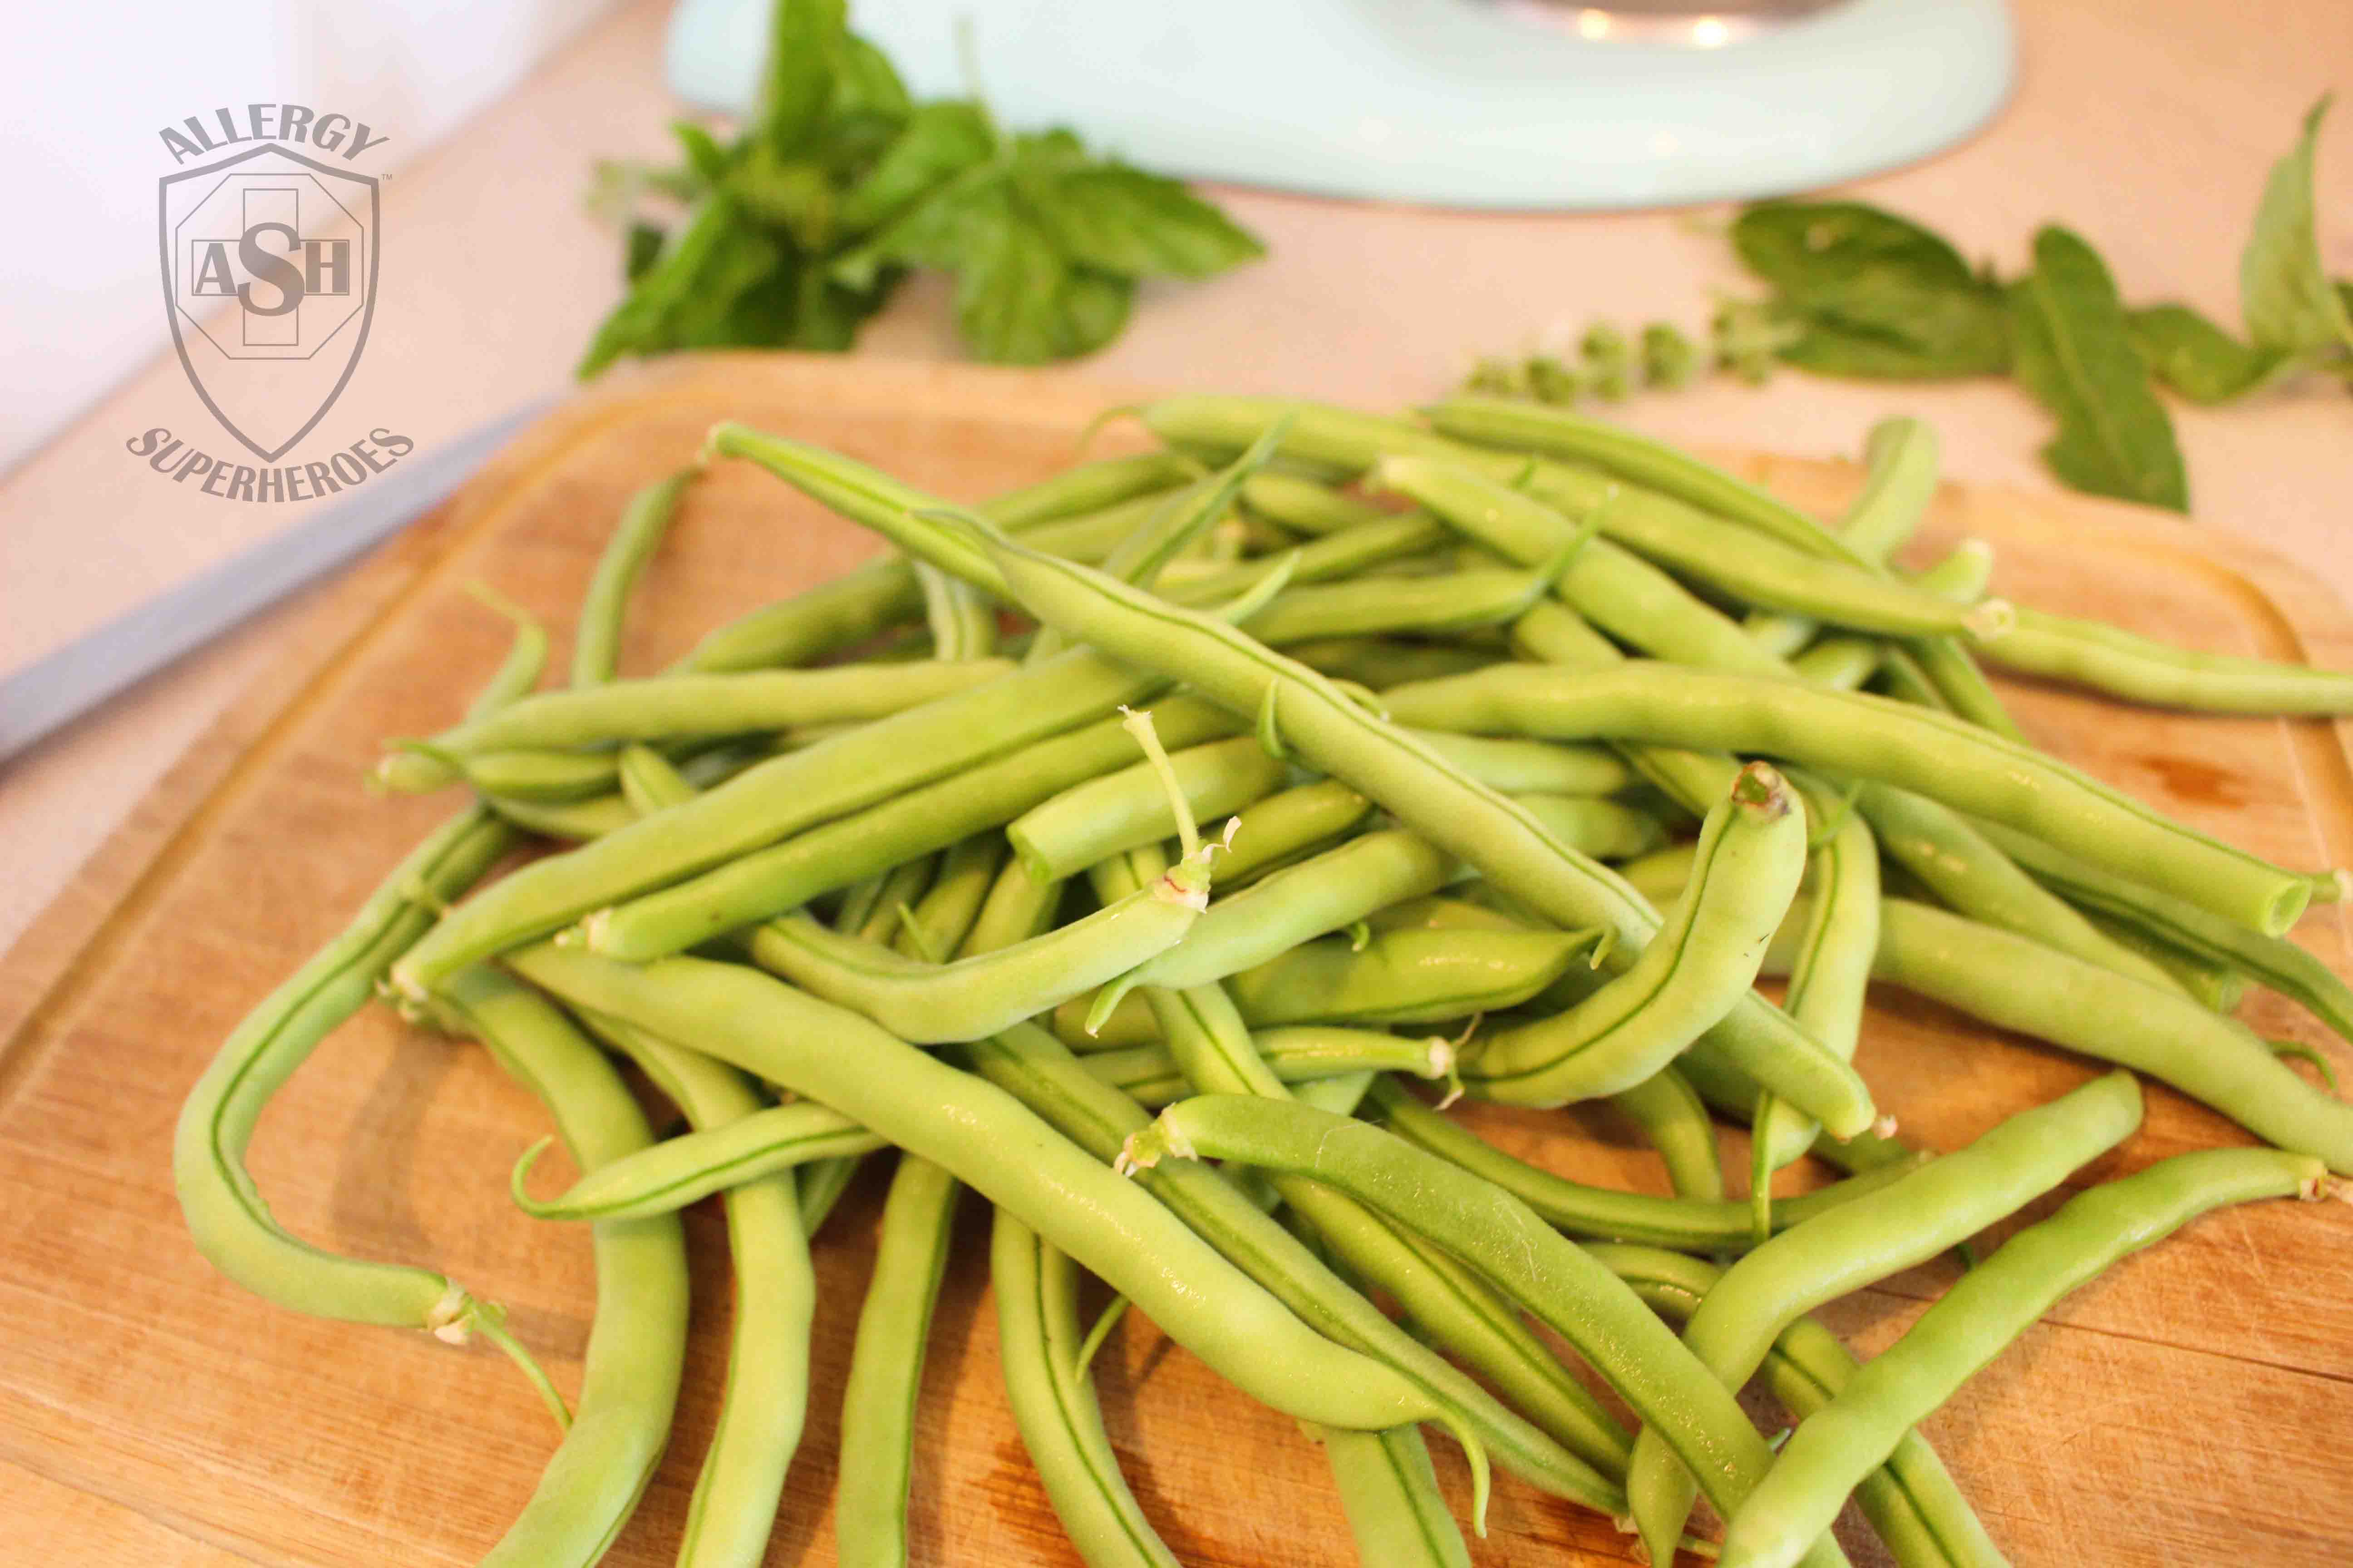
<svg viewBox="0 0 2353 1568"><path fill-rule="evenodd" d="M2035 233L2035 270L2009 294L2014 369L2059 418L2042 461L2066 484L2188 510L2174 425L2132 346L2115 280L2064 228Z"/></svg>

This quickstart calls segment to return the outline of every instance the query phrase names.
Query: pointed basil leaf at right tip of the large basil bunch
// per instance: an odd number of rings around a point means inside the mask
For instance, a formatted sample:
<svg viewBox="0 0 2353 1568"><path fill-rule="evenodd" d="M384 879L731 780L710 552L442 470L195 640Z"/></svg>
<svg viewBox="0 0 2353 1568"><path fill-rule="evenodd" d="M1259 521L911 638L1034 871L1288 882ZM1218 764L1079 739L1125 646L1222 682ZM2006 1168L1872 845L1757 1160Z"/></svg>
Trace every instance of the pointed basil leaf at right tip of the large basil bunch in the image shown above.
<svg viewBox="0 0 2353 1568"><path fill-rule="evenodd" d="M1266 254L1249 230L1174 179L1118 162L1040 167L1040 155L1026 162L1014 169L1026 205L1054 247L1080 266L1122 277L1207 277Z"/></svg>

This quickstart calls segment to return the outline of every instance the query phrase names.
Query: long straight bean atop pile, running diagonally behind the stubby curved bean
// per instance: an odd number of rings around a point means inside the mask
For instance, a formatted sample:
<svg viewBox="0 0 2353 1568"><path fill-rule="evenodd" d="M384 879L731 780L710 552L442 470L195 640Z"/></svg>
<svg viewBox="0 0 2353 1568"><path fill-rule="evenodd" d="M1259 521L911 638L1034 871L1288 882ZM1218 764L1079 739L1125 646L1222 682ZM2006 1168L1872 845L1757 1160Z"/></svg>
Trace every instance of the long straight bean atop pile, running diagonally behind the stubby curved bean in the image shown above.
<svg viewBox="0 0 2353 1568"><path fill-rule="evenodd" d="M1624 952L1614 961L1631 961L1633 950L1657 929L1657 914L1619 877L1546 835L1522 806L1464 778L1393 724L1367 715L1313 670L1271 654L1233 628L1160 607L1085 567L1049 562L1002 543L993 543L991 555L1033 614L1068 621L1075 635L1111 656L1181 672L1233 712L1273 715L1285 741L1308 762L1381 802L1407 827L1461 856L1546 919L1565 929L1614 931ZM1854 1070L1807 1041L1762 999L1739 1004L1711 1037L1753 1074L1774 1079L1777 1093L1814 1114L1833 1135L1859 1133L1875 1119L1871 1093Z"/></svg>

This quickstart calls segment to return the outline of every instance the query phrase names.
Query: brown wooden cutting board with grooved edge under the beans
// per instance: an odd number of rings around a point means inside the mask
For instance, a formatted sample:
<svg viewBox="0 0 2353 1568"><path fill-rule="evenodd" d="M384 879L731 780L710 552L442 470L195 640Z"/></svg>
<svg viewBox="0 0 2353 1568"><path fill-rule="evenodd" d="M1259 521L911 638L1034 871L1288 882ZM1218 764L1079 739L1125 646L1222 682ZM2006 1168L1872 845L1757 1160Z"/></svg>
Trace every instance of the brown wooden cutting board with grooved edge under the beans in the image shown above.
<svg viewBox="0 0 2353 1568"><path fill-rule="evenodd" d="M0 964L0 1516L14 1523L0 1561L358 1568L466 1563L496 1540L555 1439L522 1380L487 1349L301 1319L219 1279L172 1199L181 1095L238 1016L452 809L369 797L360 776L384 736L447 724L496 665L506 625L464 583L487 581L567 628L624 496L687 461L715 418L979 498L1068 461L1073 433L1113 400L1061 374L678 360L548 416L327 595L271 679ZM1812 508L1835 508L1854 484L1833 463L1744 468ZM2120 505L1948 489L1915 555L1965 534L1995 545L1995 588L2026 602L2209 649L2353 665L2346 609L2242 541ZM704 628L873 550L774 480L725 465L645 578L628 668L652 670ZM2009 696L2038 743L2200 827L2289 865L2353 863L2353 771L2334 724L2191 719L2031 686ZM2299 940L2339 969L2353 961L2337 910L2315 912ZM2353 1072L2353 1051L2278 997L2254 997L2245 1016ZM1906 1133L1937 1147L2092 1072L1901 994L1875 999L1861 1070ZM1567 1173L1664 1190L1654 1157L1602 1114L1489 1110L1478 1121ZM569 1389L593 1300L586 1237L506 1201L508 1161L541 1128L529 1095L480 1051L374 1009L271 1107L252 1166L294 1232L426 1262L508 1302ZM2146 1128L2085 1175L2231 1140L2221 1119L2151 1091ZM772 1563L833 1561L838 1401L873 1175L819 1239L809 1432ZM965 1220L927 1366L915 1561L1073 1563L1005 1413L984 1215ZM701 1316L678 1434L612 1563L671 1561L720 1394L727 1260L711 1204L689 1215L689 1237ZM1868 1354L1951 1279L1939 1260L1824 1316ZM1329 1476L1292 1422L1136 1319L1096 1366L1127 1474L1179 1559L1351 1561ZM2019 1563L2353 1561L2341 1486L2353 1208L2271 1204L2202 1220L2066 1300L1929 1436ZM1457 1455L1433 1448L1461 1500ZM1499 1486L1489 1523L1480 1563L1631 1561L1607 1521L1515 1481ZM1845 1535L1859 1561L1882 1561L1852 1516Z"/></svg>

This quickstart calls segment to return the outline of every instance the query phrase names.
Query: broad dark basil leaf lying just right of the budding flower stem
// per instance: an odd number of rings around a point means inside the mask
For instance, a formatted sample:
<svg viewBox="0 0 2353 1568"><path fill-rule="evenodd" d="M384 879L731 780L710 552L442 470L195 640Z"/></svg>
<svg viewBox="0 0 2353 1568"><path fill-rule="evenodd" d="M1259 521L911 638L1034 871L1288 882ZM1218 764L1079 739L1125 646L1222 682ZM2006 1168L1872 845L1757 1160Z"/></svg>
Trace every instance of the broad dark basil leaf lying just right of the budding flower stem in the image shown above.
<svg viewBox="0 0 2353 1568"><path fill-rule="evenodd" d="M2000 374L2009 336L1998 284L1941 235L1861 202L1760 202L1732 247L1800 327L1781 350L1824 376L1934 381Z"/></svg>

